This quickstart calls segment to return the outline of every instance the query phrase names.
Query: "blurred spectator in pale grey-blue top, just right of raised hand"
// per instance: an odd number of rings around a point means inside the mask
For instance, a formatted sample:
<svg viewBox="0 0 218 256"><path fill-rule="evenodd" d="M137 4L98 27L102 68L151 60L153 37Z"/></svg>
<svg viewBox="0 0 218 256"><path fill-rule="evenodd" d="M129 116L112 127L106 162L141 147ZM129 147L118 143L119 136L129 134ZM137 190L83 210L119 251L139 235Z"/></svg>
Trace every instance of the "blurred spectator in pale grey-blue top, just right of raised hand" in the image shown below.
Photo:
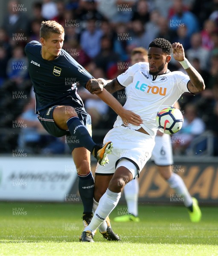
<svg viewBox="0 0 218 256"><path fill-rule="evenodd" d="M198 57L202 70L208 69L209 51L202 47L201 33L195 33L191 37L191 48L186 51L189 61L192 63L193 59Z"/></svg>

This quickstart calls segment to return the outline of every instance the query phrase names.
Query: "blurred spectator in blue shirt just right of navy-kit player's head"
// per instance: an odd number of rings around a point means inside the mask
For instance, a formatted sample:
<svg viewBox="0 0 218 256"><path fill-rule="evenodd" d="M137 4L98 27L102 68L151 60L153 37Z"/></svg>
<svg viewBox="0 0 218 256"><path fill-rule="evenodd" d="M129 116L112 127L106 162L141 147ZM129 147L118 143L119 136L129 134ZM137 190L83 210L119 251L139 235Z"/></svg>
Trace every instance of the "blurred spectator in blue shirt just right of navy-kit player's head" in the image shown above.
<svg viewBox="0 0 218 256"><path fill-rule="evenodd" d="M80 44L82 49L91 58L95 58L101 50L102 31L97 28L96 20L87 21L87 28L81 33Z"/></svg>

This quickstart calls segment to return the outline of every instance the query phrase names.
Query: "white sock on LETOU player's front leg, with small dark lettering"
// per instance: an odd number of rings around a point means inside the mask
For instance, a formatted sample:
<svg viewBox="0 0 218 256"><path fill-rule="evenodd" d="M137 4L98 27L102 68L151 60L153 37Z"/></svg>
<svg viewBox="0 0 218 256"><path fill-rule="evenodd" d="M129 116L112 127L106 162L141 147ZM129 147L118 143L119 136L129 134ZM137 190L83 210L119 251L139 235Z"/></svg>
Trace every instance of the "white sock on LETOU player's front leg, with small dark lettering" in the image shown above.
<svg viewBox="0 0 218 256"><path fill-rule="evenodd" d="M94 233L105 218L110 214L110 212L112 212L116 207L120 196L121 192L116 193L107 189L105 194L102 195L101 199L99 200L99 206L97 207L90 224L84 229L84 231L92 231Z"/></svg>

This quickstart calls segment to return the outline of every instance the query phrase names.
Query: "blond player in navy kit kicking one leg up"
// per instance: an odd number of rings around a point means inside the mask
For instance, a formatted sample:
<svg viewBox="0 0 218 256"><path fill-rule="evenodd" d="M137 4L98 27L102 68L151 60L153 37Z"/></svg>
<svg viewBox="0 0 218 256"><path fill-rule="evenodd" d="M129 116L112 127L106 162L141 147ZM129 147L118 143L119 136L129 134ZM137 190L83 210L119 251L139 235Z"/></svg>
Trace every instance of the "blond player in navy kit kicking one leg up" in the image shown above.
<svg viewBox="0 0 218 256"><path fill-rule="evenodd" d="M29 75L33 83L38 119L55 137L66 135L79 177L79 193L84 207L83 224L92 218L94 180L90 171L90 152L100 165L108 163L112 143L99 146L93 142L90 115L78 95L77 86L86 86L93 77L62 48L64 28L53 20L43 21L40 43L32 41L25 47ZM140 117L133 112L123 112L122 105L104 90L99 94L115 112L133 123ZM112 106L113 104L113 106ZM115 104L115 105L114 105ZM125 110L124 110L125 111ZM128 116L128 117L127 117ZM90 152L88 152L90 151Z"/></svg>

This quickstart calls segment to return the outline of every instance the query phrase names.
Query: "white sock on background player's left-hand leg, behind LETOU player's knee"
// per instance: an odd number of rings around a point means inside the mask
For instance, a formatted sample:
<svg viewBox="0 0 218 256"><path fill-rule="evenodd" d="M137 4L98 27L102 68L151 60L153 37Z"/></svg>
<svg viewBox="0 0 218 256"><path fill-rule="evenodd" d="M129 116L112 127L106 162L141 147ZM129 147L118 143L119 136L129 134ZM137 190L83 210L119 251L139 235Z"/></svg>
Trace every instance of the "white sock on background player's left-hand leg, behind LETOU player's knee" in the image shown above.
<svg viewBox="0 0 218 256"><path fill-rule="evenodd" d="M126 184L124 187L124 194L128 206L128 212L138 216L139 182L137 178Z"/></svg>

